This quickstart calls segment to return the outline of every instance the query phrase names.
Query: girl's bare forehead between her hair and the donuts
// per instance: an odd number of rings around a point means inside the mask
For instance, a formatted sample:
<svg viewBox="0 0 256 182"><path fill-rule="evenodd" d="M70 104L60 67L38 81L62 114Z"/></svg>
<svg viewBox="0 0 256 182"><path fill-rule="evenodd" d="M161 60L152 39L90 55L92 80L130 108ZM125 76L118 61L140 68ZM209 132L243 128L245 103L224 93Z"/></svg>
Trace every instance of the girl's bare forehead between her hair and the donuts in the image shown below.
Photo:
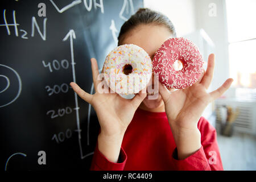
<svg viewBox="0 0 256 182"><path fill-rule="evenodd" d="M172 34L168 28L154 24L142 24L127 32L122 44L135 44L143 48L152 59L158 48L170 38Z"/></svg>

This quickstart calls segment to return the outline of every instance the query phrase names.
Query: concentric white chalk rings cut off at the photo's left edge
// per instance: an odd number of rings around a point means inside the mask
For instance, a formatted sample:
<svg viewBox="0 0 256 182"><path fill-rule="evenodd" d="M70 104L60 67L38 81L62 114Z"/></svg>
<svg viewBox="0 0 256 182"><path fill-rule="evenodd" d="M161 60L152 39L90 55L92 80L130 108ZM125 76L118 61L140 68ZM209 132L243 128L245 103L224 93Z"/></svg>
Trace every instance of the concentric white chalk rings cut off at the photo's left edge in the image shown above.
<svg viewBox="0 0 256 182"><path fill-rule="evenodd" d="M19 89L18 89L18 92L16 93L15 98L14 98L13 100L11 100L10 102L7 102L6 104L0 105L0 108L1 108L1 107L5 107L5 106L7 106L7 105L13 103L13 102L19 97L20 92L21 92L21 90L22 90L22 81L21 81L21 79L20 79L19 74L18 74L13 68L8 67L8 66L3 65L3 64L0 64L0 67L5 67L5 68L8 68L8 69L10 69L11 71L13 71L13 72L15 73L16 77L18 78L18 82L19 82ZM4 76L4 75L0 75L0 76L6 78L6 81L7 81L7 85L6 85L5 89L0 90L0 94L1 94L1 93L5 92L5 91L9 88L9 86L10 86L10 80L9 80L8 77L6 77L6 76ZM0 95L0 96L1 96L1 95Z"/></svg>

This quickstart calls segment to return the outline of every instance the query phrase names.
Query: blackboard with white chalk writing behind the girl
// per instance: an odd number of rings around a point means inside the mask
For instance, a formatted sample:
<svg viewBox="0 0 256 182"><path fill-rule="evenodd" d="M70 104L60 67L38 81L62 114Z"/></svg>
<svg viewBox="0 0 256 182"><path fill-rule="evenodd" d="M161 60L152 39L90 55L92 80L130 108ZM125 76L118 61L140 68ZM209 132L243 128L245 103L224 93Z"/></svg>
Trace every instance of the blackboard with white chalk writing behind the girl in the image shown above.
<svg viewBox="0 0 256 182"><path fill-rule="evenodd" d="M102 68L123 22L143 0L0 5L1 170L89 169L97 116L69 82L94 92L90 58Z"/></svg>

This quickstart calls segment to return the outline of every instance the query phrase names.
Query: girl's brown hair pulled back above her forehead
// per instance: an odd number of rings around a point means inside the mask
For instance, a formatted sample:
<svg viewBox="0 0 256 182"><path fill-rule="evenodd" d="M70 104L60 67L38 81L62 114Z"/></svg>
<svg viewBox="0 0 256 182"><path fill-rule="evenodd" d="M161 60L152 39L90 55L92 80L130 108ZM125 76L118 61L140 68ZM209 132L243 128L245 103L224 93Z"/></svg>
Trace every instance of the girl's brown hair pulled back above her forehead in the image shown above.
<svg viewBox="0 0 256 182"><path fill-rule="evenodd" d="M147 8L141 8L132 15L129 20L123 23L118 35L118 46L120 46L123 39L125 39L127 32L133 30L133 28L140 24L157 24L164 26L176 37L174 24L172 24L171 20L166 15Z"/></svg>

